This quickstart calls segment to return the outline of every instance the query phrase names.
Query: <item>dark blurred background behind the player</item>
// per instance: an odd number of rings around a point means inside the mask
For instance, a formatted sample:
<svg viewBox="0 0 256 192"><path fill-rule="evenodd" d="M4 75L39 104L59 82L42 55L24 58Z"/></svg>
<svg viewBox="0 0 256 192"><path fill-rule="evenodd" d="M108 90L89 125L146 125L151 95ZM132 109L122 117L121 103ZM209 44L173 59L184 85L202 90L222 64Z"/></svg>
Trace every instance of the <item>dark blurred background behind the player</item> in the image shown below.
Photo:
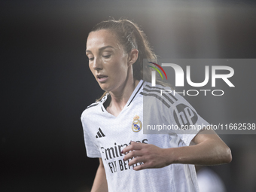
<svg viewBox="0 0 256 192"><path fill-rule="evenodd" d="M134 20L162 58L256 57L254 1L2 0L0 9L0 191L90 190L98 160L86 156L80 117L102 94L84 53L96 23ZM236 66L236 90L217 111L190 102L209 121L256 123L255 69ZM233 161L210 169L227 191L256 191L256 136L221 138Z"/></svg>

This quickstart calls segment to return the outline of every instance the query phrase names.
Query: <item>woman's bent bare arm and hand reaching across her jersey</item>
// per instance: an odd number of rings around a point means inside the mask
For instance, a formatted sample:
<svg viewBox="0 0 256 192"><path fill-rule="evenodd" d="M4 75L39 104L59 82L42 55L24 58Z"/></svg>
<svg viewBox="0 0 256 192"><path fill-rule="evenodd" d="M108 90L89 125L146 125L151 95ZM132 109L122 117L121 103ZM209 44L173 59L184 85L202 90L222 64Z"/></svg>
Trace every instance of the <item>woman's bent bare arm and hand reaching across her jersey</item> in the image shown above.
<svg viewBox="0 0 256 192"><path fill-rule="evenodd" d="M172 163L216 165L230 163L230 148L212 130L202 130L192 140L196 145L179 148L158 148L151 144L131 142L123 149L123 160L130 160L129 166L136 171L148 168L161 168Z"/></svg>

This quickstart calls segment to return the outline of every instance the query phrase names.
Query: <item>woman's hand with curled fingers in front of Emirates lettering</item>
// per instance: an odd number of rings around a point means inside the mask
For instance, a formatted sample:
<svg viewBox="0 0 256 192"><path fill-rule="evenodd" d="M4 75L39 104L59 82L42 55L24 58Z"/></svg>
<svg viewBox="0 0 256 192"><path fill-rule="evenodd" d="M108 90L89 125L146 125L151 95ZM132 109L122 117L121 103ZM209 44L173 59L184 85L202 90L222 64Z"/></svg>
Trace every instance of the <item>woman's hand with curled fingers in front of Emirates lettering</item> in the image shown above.
<svg viewBox="0 0 256 192"><path fill-rule="evenodd" d="M133 169L138 171L141 169L149 168L161 168L168 166L167 156L165 149L158 148L155 145L131 142L126 148L123 148L122 153L126 154L123 160L130 160L129 166L133 166L136 163L143 163L142 165L135 166Z"/></svg>

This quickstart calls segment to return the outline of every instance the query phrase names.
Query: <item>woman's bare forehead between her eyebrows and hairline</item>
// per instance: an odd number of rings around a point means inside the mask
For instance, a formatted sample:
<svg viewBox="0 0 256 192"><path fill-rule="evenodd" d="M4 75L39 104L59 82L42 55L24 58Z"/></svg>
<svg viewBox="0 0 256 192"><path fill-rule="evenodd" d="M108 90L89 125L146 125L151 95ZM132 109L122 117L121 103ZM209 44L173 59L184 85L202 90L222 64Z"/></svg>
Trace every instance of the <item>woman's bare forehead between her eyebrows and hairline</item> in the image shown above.
<svg viewBox="0 0 256 192"><path fill-rule="evenodd" d="M90 32L87 38L87 50L100 47L112 46L119 47L118 40L114 32L108 29L101 29L96 32Z"/></svg>

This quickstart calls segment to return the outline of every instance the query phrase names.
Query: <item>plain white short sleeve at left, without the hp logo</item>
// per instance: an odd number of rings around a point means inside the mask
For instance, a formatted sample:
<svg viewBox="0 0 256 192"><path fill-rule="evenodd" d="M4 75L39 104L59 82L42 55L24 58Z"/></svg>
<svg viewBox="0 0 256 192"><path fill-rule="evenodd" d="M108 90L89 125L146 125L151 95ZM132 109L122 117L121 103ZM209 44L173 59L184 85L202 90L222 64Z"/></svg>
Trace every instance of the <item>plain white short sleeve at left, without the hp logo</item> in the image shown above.
<svg viewBox="0 0 256 192"><path fill-rule="evenodd" d="M87 157L100 158L101 154L100 154L99 148L96 145L96 143L93 141L93 138L90 136L91 135L90 130L86 126L86 123L84 123L84 120L82 117L81 117L81 122L84 130L84 144L87 151Z"/></svg>

